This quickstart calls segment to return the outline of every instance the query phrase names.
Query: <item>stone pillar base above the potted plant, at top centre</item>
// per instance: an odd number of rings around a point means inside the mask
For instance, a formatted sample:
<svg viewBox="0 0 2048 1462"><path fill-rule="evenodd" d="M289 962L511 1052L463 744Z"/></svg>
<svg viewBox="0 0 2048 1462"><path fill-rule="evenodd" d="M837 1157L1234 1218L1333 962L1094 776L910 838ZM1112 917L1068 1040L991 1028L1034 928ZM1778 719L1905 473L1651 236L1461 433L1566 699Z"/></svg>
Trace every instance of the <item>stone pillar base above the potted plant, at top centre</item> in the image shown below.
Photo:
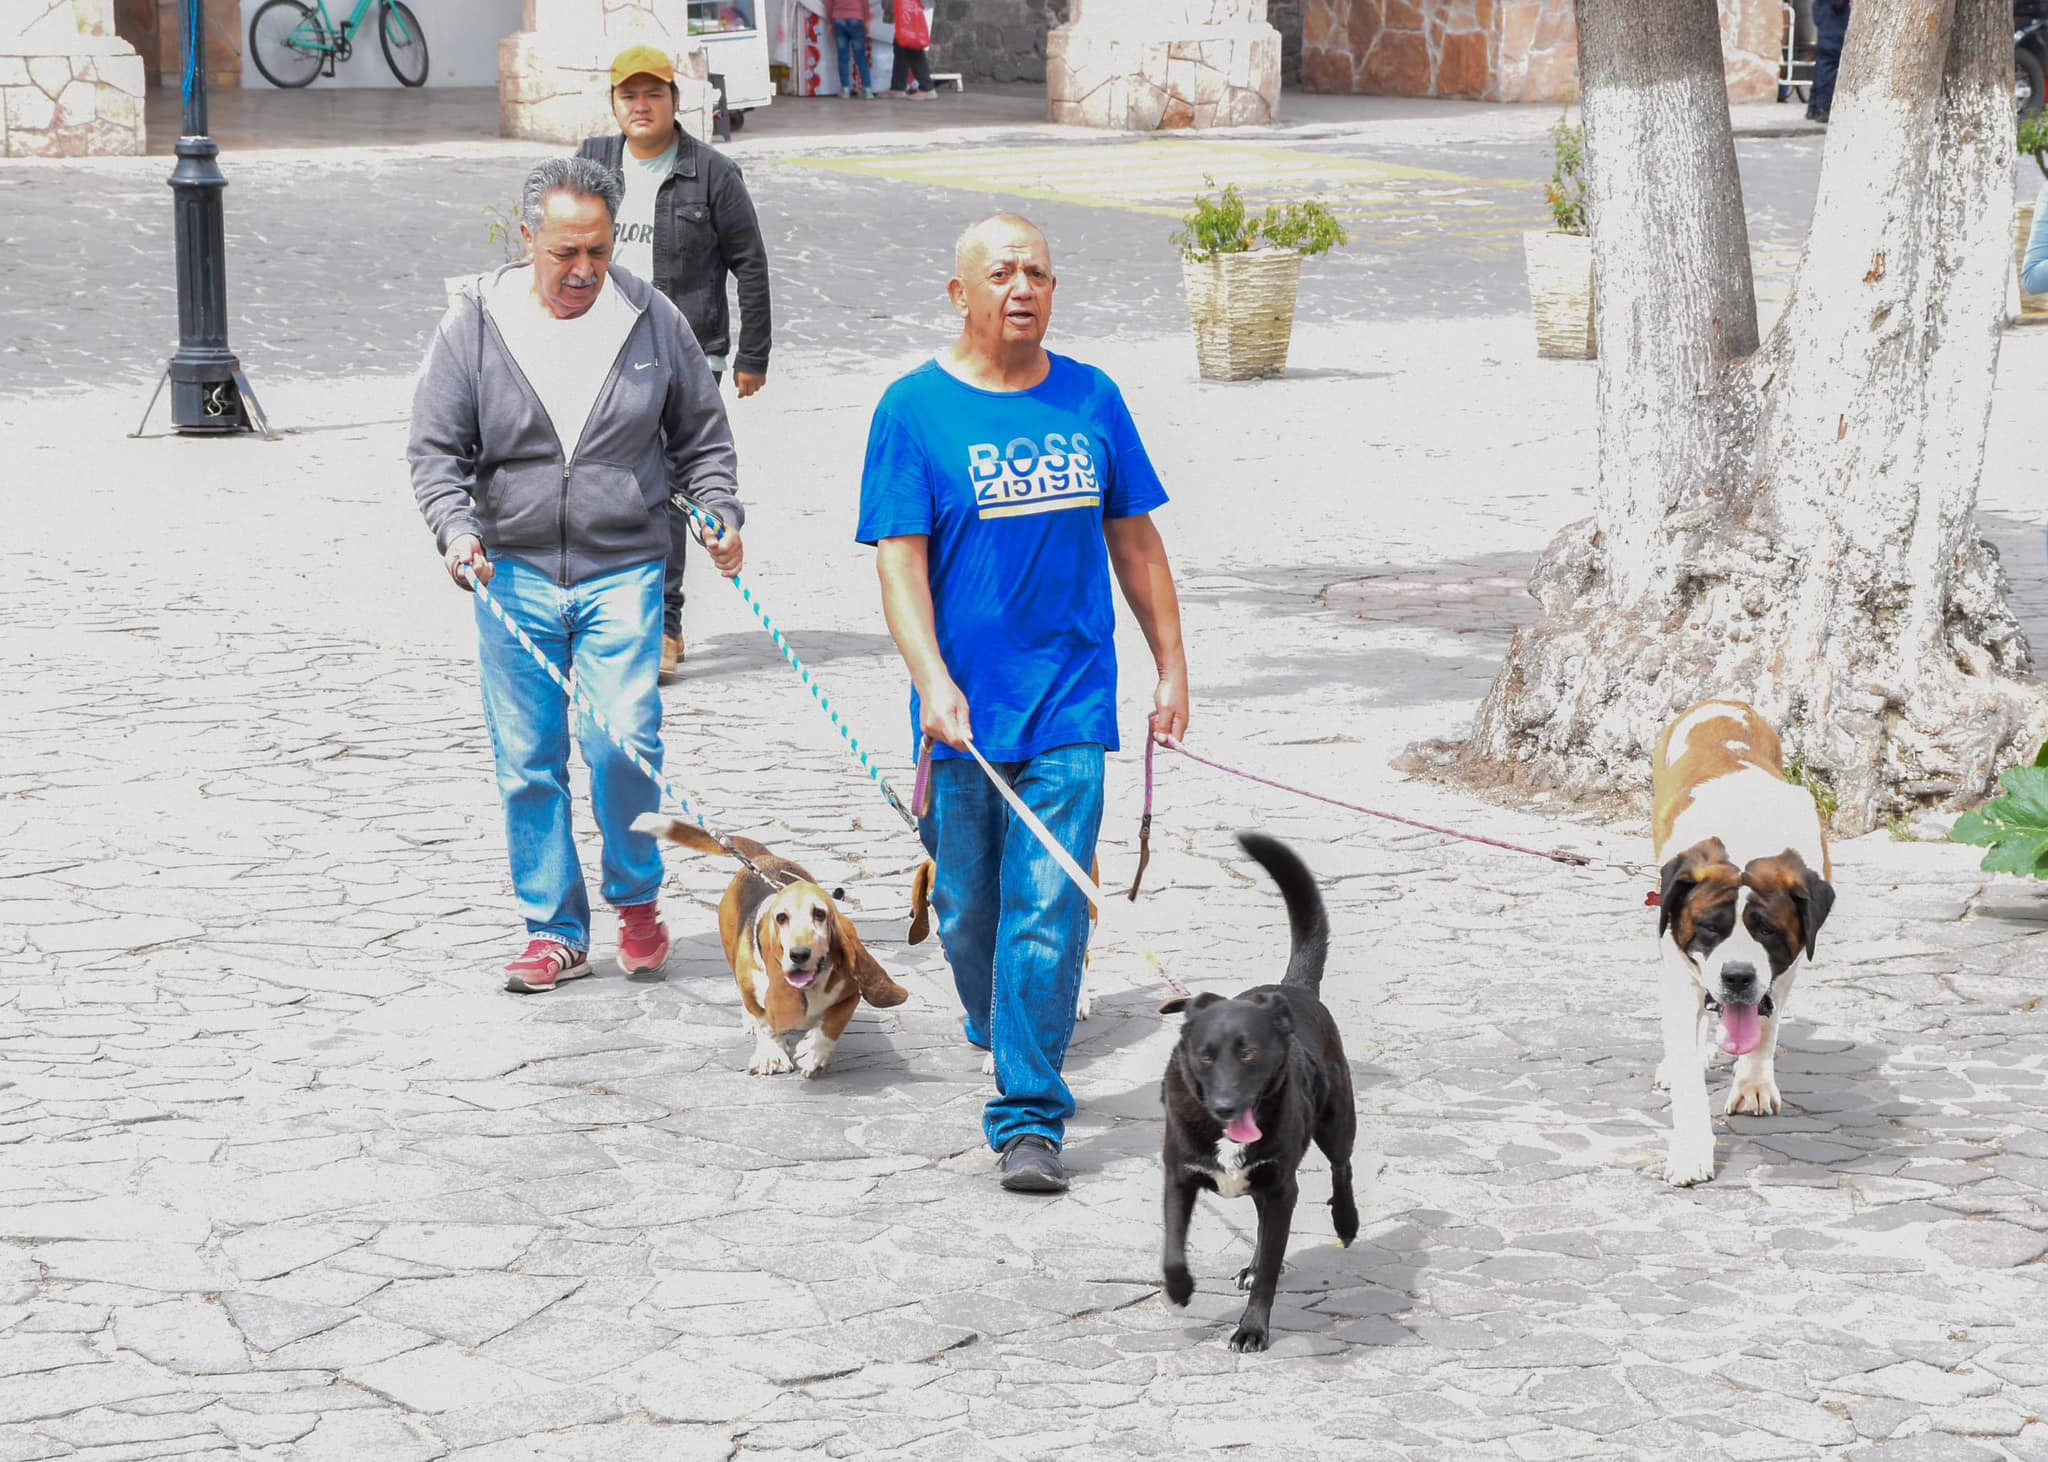
<svg viewBox="0 0 2048 1462"><path fill-rule="evenodd" d="M1243 127L1280 115L1280 33L1266 0L1073 0L1044 43L1053 121Z"/></svg>

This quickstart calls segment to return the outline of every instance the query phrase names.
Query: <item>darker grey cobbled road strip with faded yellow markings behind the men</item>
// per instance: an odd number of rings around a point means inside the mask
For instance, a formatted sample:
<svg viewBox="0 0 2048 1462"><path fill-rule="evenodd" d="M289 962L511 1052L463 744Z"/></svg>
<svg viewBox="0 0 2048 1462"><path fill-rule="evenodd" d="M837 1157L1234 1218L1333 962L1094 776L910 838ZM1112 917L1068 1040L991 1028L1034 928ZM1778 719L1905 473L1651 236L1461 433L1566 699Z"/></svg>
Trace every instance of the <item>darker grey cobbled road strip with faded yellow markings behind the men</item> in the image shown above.
<svg viewBox="0 0 2048 1462"><path fill-rule="evenodd" d="M223 158L229 338L268 383L401 375L446 274L487 268L485 209L510 207L543 154ZM1817 139L1743 143L1765 301L1798 256ZM748 162L776 270L776 350L846 362L940 340L952 240L1028 207L1059 244L1061 321L1077 338L1186 330L1174 221L1204 176L1329 197L1354 244L1303 276L1303 319L1462 319L1528 307L1522 229L1544 221L1548 156L1530 141L1155 139L893 149ZM164 162L0 168L0 393L137 381L176 346ZM143 387L145 389L145 387ZM141 399L135 401L141 412Z"/></svg>

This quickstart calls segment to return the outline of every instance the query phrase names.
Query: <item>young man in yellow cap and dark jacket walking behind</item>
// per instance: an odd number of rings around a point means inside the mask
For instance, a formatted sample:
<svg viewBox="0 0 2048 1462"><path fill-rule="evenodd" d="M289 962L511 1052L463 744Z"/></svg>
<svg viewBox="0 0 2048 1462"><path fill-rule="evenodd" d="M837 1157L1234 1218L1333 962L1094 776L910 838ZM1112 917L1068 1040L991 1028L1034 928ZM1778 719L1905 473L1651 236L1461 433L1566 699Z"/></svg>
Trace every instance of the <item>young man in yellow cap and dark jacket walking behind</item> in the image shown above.
<svg viewBox="0 0 2048 1462"><path fill-rule="evenodd" d="M621 131L586 137L578 156L625 178L614 221L612 268L668 295L690 321L715 379L733 373L745 399L768 383L768 248L739 164L682 129L676 61L633 45L612 59L612 117ZM733 348L725 276L739 281L739 346ZM682 663L682 545L688 516L670 508L672 549L662 582L662 682Z"/></svg>

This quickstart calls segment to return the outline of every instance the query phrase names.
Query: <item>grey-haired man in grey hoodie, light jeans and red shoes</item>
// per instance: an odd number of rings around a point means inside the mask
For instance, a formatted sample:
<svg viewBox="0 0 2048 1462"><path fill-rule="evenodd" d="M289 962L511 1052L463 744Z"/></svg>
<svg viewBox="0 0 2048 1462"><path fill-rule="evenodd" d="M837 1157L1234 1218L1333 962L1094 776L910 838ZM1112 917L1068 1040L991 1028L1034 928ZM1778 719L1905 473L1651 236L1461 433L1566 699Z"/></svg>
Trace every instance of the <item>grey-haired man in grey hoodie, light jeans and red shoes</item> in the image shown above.
<svg viewBox="0 0 2048 1462"><path fill-rule="evenodd" d="M737 459L711 369L682 313L610 268L618 174L586 158L526 178L528 262L479 278L442 317L412 403L414 496L449 575L492 598L612 731L662 766L662 565L668 500L723 524L721 573L741 563ZM535 657L477 604L483 717L506 807L524 954L506 989L590 973L590 895L569 821L569 715ZM662 854L633 819L659 788L602 729L580 727L604 842L602 897L629 975L668 960Z"/></svg>

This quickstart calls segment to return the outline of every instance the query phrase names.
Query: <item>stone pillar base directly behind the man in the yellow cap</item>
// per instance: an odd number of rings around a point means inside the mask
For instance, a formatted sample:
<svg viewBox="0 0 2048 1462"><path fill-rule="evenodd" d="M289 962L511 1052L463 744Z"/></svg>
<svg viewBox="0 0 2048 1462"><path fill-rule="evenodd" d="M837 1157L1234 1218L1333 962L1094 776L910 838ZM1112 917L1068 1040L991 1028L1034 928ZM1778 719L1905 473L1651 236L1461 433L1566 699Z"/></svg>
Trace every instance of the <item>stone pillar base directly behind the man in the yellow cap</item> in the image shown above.
<svg viewBox="0 0 2048 1462"><path fill-rule="evenodd" d="M526 0L526 29L498 43L498 131L580 143L618 131L612 57L653 45L676 57L684 131L711 135L717 94L705 47L690 35L686 0Z"/></svg>

